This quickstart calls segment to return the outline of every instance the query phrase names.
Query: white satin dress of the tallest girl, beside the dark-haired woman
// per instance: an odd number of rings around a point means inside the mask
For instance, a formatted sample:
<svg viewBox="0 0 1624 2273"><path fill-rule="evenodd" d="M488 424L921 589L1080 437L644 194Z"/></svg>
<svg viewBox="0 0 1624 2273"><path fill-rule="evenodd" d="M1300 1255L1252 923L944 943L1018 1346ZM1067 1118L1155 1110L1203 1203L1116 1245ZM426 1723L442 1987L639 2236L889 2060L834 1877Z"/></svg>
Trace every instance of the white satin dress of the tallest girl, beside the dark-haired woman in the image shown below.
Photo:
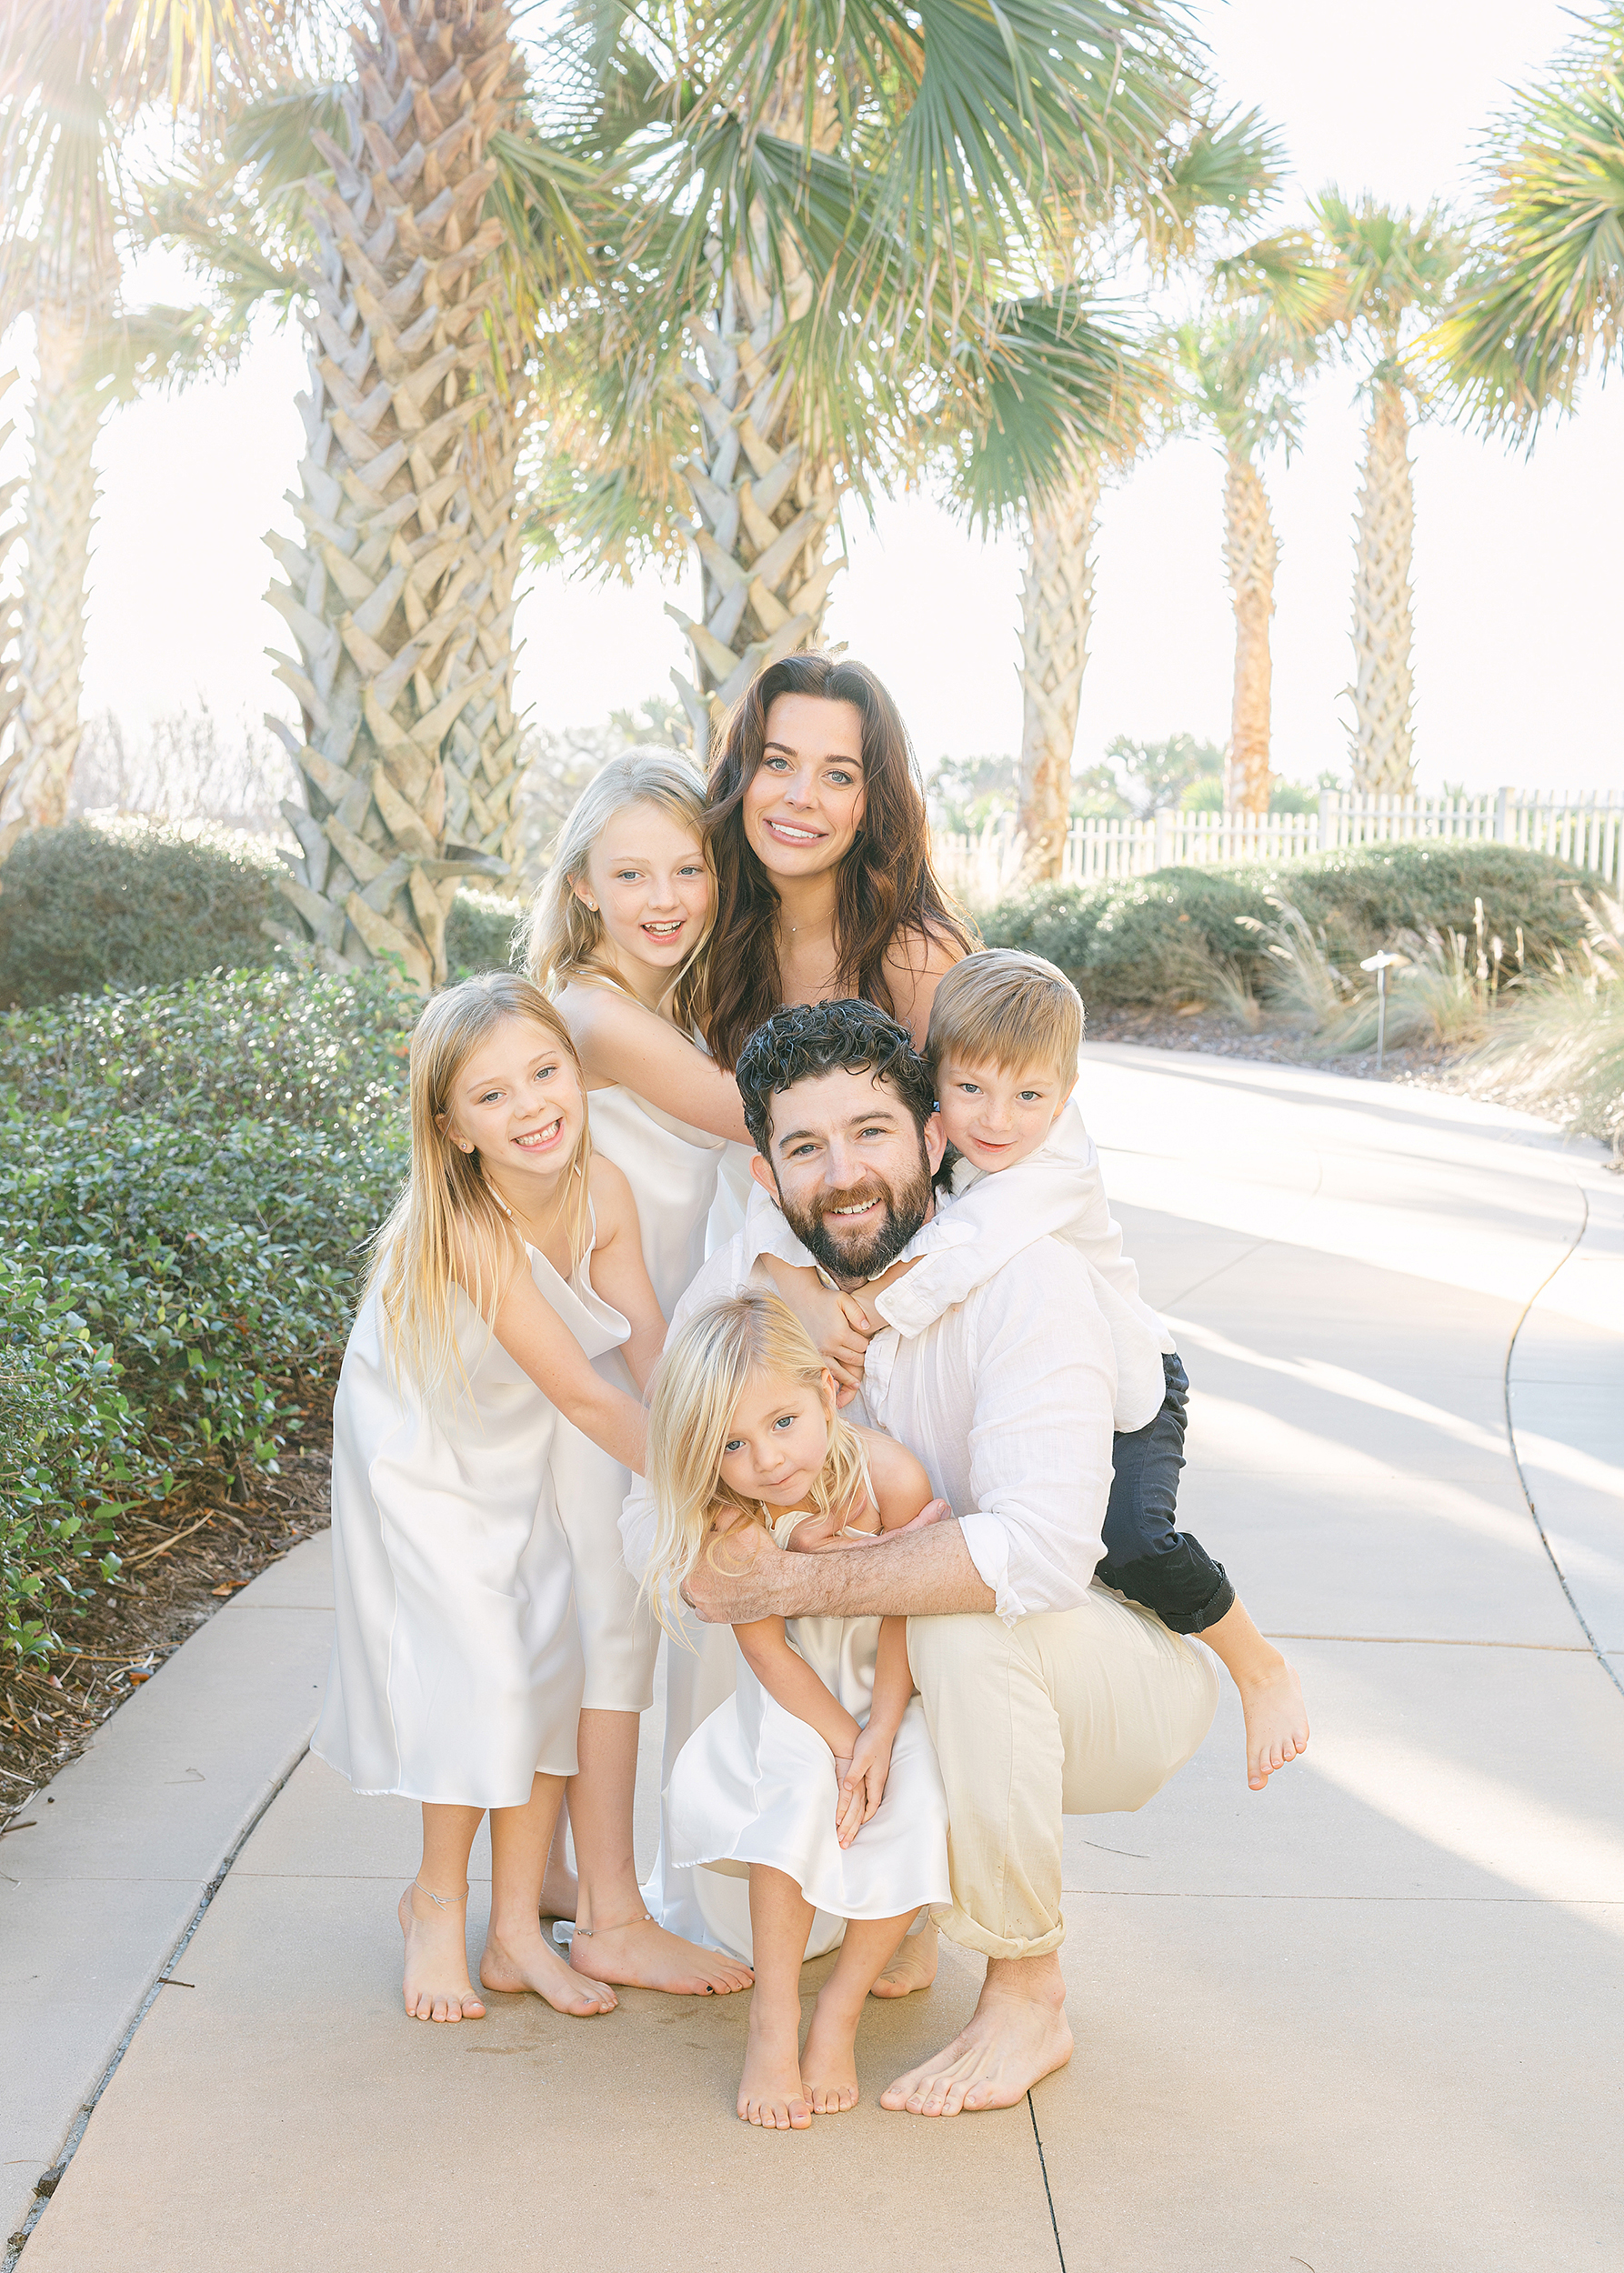
<svg viewBox="0 0 1624 2273"><path fill-rule="evenodd" d="M716 1198L721 1136L689 1127L630 1089L589 1089L591 1143L612 1159L637 1200L637 1230L655 1300L669 1318L678 1296L705 1262L705 1223ZM625 1359L610 1350L594 1359L598 1373L637 1396ZM587 1659L587 1712L644 1712L655 1700L660 1625L625 1568L619 1514L632 1489L630 1473L582 1437L560 1425L560 1512L575 1557L575 1612Z"/></svg>

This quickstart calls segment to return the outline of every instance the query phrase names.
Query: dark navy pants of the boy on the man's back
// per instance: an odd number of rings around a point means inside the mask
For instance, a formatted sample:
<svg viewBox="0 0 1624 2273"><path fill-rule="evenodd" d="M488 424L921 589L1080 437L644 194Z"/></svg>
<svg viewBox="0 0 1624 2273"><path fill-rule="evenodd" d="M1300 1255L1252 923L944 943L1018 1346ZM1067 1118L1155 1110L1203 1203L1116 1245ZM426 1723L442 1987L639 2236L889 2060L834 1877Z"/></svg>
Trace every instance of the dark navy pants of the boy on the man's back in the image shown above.
<svg viewBox="0 0 1624 2273"><path fill-rule="evenodd" d="M1146 1427L1112 1439L1105 1502L1105 1559L1096 1577L1130 1602L1144 1602L1176 1634L1217 1625L1235 1589L1199 1539L1178 1530L1178 1471L1185 1464L1190 1377L1178 1357L1162 1357L1167 1396Z"/></svg>

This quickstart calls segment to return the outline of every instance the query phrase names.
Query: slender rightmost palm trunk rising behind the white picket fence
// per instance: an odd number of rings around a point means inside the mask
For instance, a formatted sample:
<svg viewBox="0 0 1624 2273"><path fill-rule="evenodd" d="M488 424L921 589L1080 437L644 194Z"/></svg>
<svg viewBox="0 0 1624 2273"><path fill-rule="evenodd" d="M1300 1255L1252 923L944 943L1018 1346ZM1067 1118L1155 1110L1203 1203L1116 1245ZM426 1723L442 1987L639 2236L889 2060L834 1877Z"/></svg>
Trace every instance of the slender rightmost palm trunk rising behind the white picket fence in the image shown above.
<svg viewBox="0 0 1624 2273"><path fill-rule="evenodd" d="M1365 436L1353 568L1353 786L1415 789L1410 559L1415 484L1410 421L1397 386L1376 386Z"/></svg>

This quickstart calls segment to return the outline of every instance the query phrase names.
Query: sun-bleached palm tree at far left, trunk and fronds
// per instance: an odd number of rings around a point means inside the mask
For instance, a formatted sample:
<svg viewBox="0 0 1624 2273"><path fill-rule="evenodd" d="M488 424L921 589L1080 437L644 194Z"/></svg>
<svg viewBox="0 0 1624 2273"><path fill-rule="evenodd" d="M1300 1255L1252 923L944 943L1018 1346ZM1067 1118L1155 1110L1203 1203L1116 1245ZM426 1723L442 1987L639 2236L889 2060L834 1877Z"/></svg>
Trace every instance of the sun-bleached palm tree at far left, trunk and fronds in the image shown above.
<svg viewBox="0 0 1624 2273"><path fill-rule="evenodd" d="M27 825L66 818L80 746L93 450L107 398L82 384L118 291L118 150L159 98L207 102L214 75L277 36L282 7L102 0L0 9L0 330L32 314L39 359L27 471L14 761Z"/></svg>

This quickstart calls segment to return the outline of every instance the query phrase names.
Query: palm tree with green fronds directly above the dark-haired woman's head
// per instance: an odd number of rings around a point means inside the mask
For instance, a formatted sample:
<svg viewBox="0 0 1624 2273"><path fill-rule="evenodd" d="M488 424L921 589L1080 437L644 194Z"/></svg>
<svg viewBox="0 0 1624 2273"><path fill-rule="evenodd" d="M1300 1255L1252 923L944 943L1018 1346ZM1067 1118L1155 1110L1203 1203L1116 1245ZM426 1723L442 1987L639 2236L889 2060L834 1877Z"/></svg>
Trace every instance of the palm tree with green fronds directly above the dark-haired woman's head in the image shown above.
<svg viewBox="0 0 1624 2273"><path fill-rule="evenodd" d="M703 748L769 659L817 639L844 564L842 496L917 471L933 418L987 434L1003 389L1003 439L1033 452L1028 486L1053 477L1067 427L1024 416L1019 373L1067 350L1035 345L1017 314L1030 302L1010 250L1042 234L1051 202L1076 207L1083 180L1101 202L1108 182L1149 195L1196 82L1160 0L1001 16L973 0L835 16L796 0L703 20L676 7L621 20L610 0L610 16L621 36L598 66L603 111L660 152L628 241L648 280L628 320L644 343L685 334L687 350L678 386L648 348L628 396L664 434L630 496L648 525L666 468L689 493L671 527L698 555L701 611L671 614ZM1096 382L1078 377L1085 393Z"/></svg>

